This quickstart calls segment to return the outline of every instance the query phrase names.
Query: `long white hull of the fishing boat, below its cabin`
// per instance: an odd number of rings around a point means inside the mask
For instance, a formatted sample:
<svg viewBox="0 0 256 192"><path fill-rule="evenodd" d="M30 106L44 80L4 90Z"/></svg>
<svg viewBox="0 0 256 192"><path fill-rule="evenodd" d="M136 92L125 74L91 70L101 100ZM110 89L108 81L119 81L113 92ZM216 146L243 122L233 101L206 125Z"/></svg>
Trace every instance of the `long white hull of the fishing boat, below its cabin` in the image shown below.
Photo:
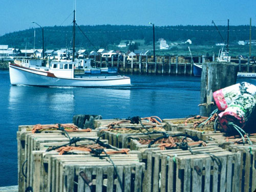
<svg viewBox="0 0 256 192"><path fill-rule="evenodd" d="M116 87L131 86L130 77L99 76L84 78L59 78L47 71L32 70L18 65L9 64L11 84L28 86L56 87Z"/></svg>

